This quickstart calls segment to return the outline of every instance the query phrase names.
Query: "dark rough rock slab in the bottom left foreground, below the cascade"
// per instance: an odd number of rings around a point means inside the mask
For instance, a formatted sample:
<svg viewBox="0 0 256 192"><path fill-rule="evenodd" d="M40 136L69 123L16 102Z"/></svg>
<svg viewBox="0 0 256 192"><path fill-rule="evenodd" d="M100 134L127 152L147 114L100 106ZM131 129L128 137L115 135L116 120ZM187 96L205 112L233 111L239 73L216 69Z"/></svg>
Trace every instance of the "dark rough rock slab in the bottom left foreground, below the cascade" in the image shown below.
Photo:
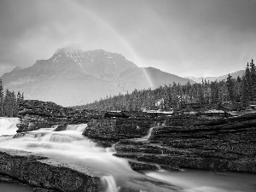
<svg viewBox="0 0 256 192"><path fill-rule="evenodd" d="M0 149L0 173L46 189L98 191L101 177L90 170L24 151Z"/></svg>

